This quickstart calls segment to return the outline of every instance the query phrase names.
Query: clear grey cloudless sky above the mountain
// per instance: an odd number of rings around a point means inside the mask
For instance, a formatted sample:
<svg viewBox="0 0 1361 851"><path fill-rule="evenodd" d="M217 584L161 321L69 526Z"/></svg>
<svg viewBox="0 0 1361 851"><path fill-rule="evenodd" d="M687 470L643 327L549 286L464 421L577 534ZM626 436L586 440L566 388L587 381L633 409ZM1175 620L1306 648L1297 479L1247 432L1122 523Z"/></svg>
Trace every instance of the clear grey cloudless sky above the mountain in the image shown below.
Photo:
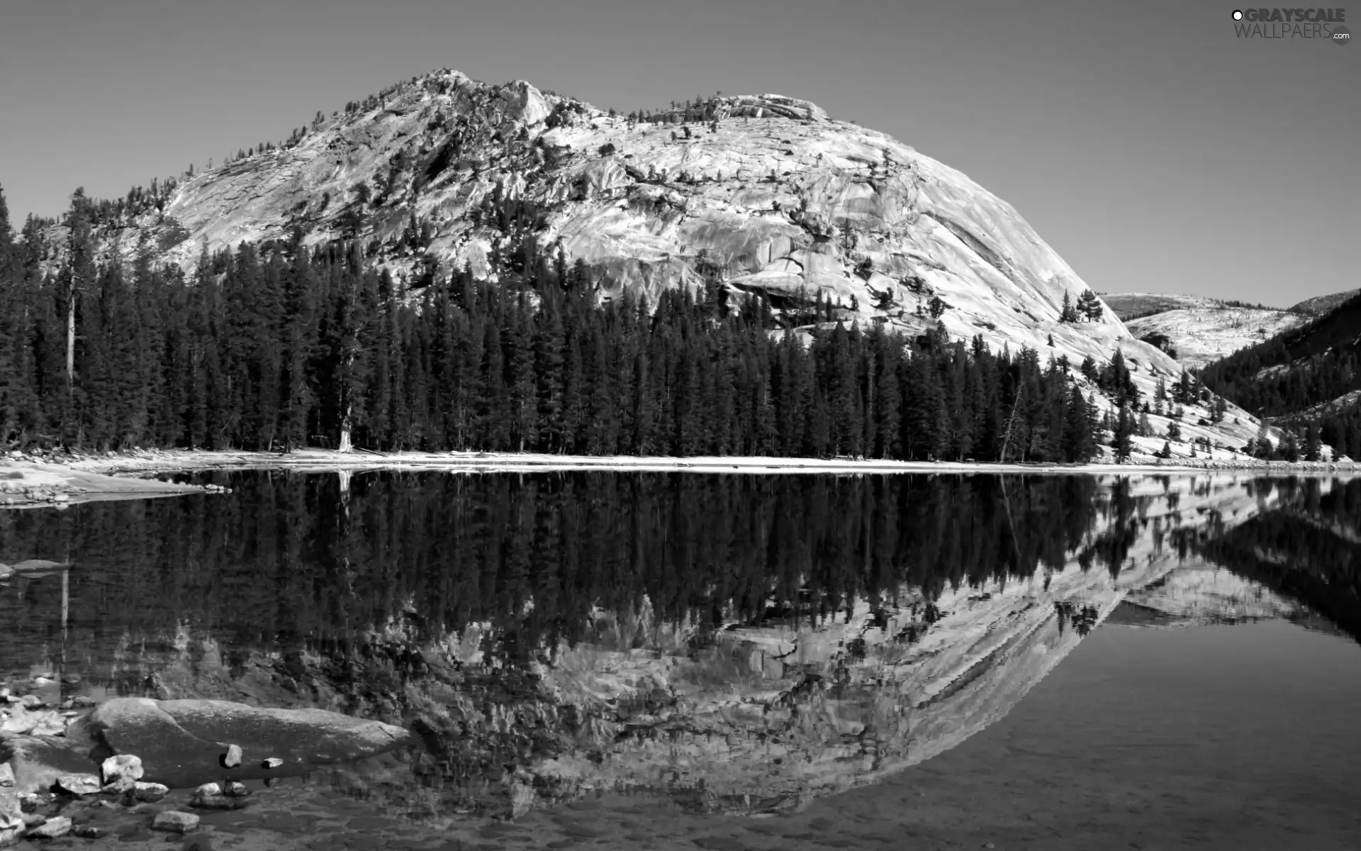
<svg viewBox="0 0 1361 851"><path fill-rule="evenodd" d="M4 0L0 187L284 139L434 68L600 108L815 101L1010 202L1101 291L1289 305L1361 286L1361 45L1240 39L1204 0ZM1361 31L1361 3L1347 25Z"/></svg>

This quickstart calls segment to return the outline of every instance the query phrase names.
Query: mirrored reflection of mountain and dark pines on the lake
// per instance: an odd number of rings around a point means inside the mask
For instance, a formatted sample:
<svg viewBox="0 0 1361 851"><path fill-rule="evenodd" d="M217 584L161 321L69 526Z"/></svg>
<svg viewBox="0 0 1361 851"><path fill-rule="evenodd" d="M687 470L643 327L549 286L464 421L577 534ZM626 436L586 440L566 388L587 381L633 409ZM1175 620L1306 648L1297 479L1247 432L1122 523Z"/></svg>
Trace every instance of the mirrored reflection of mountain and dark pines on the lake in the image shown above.
<svg viewBox="0 0 1361 851"><path fill-rule="evenodd" d="M0 673L406 723L426 749L392 794L433 810L798 807L1002 718L1117 607L1361 635L1361 481L211 481L233 493L0 512L0 561L72 564L0 584Z"/></svg>

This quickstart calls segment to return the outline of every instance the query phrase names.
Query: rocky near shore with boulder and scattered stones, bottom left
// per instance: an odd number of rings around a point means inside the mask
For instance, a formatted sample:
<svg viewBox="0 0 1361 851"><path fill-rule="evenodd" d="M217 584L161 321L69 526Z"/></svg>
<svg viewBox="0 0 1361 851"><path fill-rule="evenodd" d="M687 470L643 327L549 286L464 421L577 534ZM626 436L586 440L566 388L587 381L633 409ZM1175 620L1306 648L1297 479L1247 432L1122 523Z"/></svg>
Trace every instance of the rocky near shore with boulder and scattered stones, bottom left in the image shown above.
<svg viewBox="0 0 1361 851"><path fill-rule="evenodd" d="M211 832L215 814L245 810L284 779L414 743L401 727L321 709L86 697L53 705L54 684L39 675L0 689L0 847L64 837L127 847L195 833L204 820ZM245 824L268 821L255 809ZM184 847L214 844L204 836Z"/></svg>

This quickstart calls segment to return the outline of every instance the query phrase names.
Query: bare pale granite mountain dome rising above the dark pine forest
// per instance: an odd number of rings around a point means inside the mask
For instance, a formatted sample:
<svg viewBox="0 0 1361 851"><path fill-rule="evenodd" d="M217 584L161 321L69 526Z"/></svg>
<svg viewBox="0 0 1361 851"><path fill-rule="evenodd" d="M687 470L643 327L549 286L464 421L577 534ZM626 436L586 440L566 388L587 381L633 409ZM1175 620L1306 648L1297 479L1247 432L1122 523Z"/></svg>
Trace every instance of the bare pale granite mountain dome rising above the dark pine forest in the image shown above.
<svg viewBox="0 0 1361 851"><path fill-rule="evenodd" d="M186 176L99 238L185 268L204 246L352 238L412 287L463 264L491 274L493 257L580 260L602 298L708 278L909 332L938 317L953 336L1074 365L1121 350L1146 394L1180 372L1108 309L1060 323L1064 295L1087 289L1078 274L1010 204L898 140L773 94L637 117L441 71ZM1237 410L1214 426L1228 444L1255 430Z"/></svg>

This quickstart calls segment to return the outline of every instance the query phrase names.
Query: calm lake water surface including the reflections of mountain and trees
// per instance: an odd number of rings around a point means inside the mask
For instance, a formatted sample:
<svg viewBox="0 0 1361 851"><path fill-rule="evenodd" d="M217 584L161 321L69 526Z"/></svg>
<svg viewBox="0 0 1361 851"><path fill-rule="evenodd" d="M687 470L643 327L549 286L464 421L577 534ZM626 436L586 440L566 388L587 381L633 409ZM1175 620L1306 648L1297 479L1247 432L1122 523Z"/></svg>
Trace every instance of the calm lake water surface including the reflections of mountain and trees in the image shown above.
<svg viewBox="0 0 1361 851"><path fill-rule="evenodd" d="M1361 479L195 481L0 512L0 678L421 734L242 848L1361 847Z"/></svg>

